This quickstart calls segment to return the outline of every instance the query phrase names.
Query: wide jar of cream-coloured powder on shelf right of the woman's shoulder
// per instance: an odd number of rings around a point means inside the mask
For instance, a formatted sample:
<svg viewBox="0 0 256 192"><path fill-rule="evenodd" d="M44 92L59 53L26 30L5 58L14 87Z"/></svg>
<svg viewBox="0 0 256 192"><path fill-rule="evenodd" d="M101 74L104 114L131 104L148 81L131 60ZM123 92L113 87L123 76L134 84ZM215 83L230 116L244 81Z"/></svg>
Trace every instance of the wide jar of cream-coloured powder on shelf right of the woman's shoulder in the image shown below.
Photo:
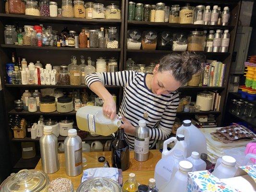
<svg viewBox="0 0 256 192"><path fill-rule="evenodd" d="M200 106L201 111L210 111L212 109L213 96L207 91L198 93L196 96L196 105Z"/></svg>

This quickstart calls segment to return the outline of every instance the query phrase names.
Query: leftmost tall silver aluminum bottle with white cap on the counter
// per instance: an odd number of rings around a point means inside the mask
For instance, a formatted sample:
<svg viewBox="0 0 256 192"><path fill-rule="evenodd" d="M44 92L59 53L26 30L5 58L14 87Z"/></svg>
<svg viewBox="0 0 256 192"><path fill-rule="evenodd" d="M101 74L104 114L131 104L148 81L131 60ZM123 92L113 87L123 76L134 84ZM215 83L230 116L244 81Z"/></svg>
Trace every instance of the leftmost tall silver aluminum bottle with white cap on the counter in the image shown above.
<svg viewBox="0 0 256 192"><path fill-rule="evenodd" d="M52 133L51 126L44 127L44 135L39 140L42 168L46 174L60 169L58 157L58 138Z"/></svg>

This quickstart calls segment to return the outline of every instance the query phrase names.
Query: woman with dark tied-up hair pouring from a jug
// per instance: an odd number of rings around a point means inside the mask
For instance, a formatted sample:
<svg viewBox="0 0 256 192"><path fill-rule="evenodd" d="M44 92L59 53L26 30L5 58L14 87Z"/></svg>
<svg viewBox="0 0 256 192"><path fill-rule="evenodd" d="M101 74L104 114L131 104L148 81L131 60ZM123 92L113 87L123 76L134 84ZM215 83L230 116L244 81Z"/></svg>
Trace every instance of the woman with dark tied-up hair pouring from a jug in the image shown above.
<svg viewBox="0 0 256 192"><path fill-rule="evenodd" d="M176 91L191 80L201 69L202 60L194 53L167 55L156 65L153 74L143 72L96 72L85 77L89 88L104 100L103 112L110 119L116 116L116 104L104 85L120 85L124 88L119 116L130 148L134 149L134 130L139 120L146 120L149 128L149 147L157 140L165 140L179 105Z"/></svg>

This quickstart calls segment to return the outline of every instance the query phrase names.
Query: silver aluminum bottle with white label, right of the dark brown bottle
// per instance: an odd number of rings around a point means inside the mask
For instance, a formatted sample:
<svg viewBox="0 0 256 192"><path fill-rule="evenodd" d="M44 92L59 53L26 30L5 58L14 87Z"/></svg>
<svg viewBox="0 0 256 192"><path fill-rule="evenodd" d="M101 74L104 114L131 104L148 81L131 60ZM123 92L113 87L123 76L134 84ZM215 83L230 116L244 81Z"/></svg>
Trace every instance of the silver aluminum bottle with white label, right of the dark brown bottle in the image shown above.
<svg viewBox="0 0 256 192"><path fill-rule="evenodd" d="M134 159L146 161L149 155L149 129L145 120L139 120L134 135Z"/></svg>

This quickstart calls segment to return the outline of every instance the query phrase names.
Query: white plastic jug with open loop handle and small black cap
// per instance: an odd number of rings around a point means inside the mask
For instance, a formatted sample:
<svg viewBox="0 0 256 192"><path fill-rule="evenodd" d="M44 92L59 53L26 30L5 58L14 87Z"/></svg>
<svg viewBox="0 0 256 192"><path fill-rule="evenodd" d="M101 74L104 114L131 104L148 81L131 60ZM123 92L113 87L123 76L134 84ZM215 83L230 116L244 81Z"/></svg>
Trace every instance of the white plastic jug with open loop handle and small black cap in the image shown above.
<svg viewBox="0 0 256 192"><path fill-rule="evenodd" d="M167 149L168 144L171 142L175 142L174 147L169 151ZM187 157L187 143L185 142L184 135L182 134L177 134L176 137L171 137L170 139L167 139L164 141L163 144L163 152L162 152L162 158L166 156L170 156L174 150L181 150L183 152L183 156L186 158Z"/></svg>

